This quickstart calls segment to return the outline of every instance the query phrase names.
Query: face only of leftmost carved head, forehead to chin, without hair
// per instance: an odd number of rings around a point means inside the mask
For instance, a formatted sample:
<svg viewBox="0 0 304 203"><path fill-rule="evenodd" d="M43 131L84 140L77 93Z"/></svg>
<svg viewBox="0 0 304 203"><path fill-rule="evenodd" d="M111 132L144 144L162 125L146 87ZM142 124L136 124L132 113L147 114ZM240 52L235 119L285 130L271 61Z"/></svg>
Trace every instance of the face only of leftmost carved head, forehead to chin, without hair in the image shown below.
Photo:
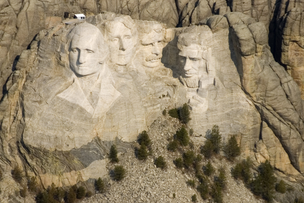
<svg viewBox="0 0 304 203"><path fill-rule="evenodd" d="M90 34L91 33L91 34ZM70 43L69 62L71 70L79 77L99 72L100 51L93 32L76 32Z"/></svg>

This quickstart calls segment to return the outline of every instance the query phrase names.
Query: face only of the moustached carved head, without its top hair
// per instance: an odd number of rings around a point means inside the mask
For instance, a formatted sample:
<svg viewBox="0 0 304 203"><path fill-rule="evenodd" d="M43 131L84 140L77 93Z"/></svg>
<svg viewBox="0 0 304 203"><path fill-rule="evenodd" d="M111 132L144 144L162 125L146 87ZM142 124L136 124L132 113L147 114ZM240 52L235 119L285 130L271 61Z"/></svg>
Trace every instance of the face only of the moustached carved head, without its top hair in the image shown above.
<svg viewBox="0 0 304 203"><path fill-rule="evenodd" d="M157 33L153 30L143 37L137 54L141 65L149 68L155 68L161 65L163 51L162 41L164 41L163 31Z"/></svg>

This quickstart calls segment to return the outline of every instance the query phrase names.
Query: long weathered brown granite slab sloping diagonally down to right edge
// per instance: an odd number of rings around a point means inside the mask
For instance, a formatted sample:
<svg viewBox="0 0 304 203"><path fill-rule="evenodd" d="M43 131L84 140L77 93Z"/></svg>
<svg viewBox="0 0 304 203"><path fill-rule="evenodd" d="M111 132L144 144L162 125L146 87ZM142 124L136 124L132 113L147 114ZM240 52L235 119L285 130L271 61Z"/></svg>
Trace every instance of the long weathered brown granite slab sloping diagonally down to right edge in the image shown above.
<svg viewBox="0 0 304 203"><path fill-rule="evenodd" d="M241 35L233 32L233 46L238 47L236 50L239 52L236 53L236 62L242 87L250 95L262 121L280 140L292 165L302 172L303 106L296 83L283 67L274 62L267 45L262 45L262 54L244 56L243 52L248 47L239 46L239 37ZM264 38L266 41L266 34Z"/></svg>

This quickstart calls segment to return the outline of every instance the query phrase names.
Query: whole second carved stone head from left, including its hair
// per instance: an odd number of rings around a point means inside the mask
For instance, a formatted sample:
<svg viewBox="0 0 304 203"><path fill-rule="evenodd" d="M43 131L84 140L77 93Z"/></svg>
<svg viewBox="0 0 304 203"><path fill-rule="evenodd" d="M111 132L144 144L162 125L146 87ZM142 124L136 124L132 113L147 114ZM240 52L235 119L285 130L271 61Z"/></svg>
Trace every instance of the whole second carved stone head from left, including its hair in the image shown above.
<svg viewBox="0 0 304 203"><path fill-rule="evenodd" d="M136 27L130 16L118 16L105 23L105 35L110 47L110 61L127 65L134 54L137 42Z"/></svg>

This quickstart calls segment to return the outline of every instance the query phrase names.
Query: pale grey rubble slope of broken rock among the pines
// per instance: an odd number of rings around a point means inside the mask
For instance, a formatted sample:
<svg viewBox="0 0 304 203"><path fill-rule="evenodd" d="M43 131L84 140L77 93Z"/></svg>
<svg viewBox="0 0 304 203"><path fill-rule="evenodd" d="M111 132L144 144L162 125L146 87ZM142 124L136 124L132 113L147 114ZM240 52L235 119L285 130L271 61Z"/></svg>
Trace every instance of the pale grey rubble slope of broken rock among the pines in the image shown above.
<svg viewBox="0 0 304 203"><path fill-rule="evenodd" d="M198 184L193 172L178 169L173 164L173 160L181 156L179 152L167 150L168 140L172 139L175 131L180 127L180 122L169 116L162 116L155 120L148 131L152 142L152 155L147 160L140 161L135 157L134 148L129 149L120 156L119 163L110 163L107 166L108 171L116 165L124 166L127 170L125 178L122 181L110 179L105 193L96 194L81 202L191 202L191 196L194 194L197 195L198 202L211 201L211 199L203 200L195 188L187 185L186 181L189 179L196 180L196 185ZM196 136L191 137L191 140L193 150L199 153L200 145L196 142ZM135 142L134 146L138 146L138 144ZM156 168L154 165L155 158L160 155L165 158L167 163L167 168L164 170ZM203 159L201 164L206 165L207 162L208 160ZM234 163L227 161L223 156L213 158L211 163L217 169L220 167L225 169L227 188L223 192L223 202L264 202L254 196L242 181L236 181L231 177L230 168ZM210 180L212 183L213 176L210 177ZM175 198L173 193L176 195Z"/></svg>

